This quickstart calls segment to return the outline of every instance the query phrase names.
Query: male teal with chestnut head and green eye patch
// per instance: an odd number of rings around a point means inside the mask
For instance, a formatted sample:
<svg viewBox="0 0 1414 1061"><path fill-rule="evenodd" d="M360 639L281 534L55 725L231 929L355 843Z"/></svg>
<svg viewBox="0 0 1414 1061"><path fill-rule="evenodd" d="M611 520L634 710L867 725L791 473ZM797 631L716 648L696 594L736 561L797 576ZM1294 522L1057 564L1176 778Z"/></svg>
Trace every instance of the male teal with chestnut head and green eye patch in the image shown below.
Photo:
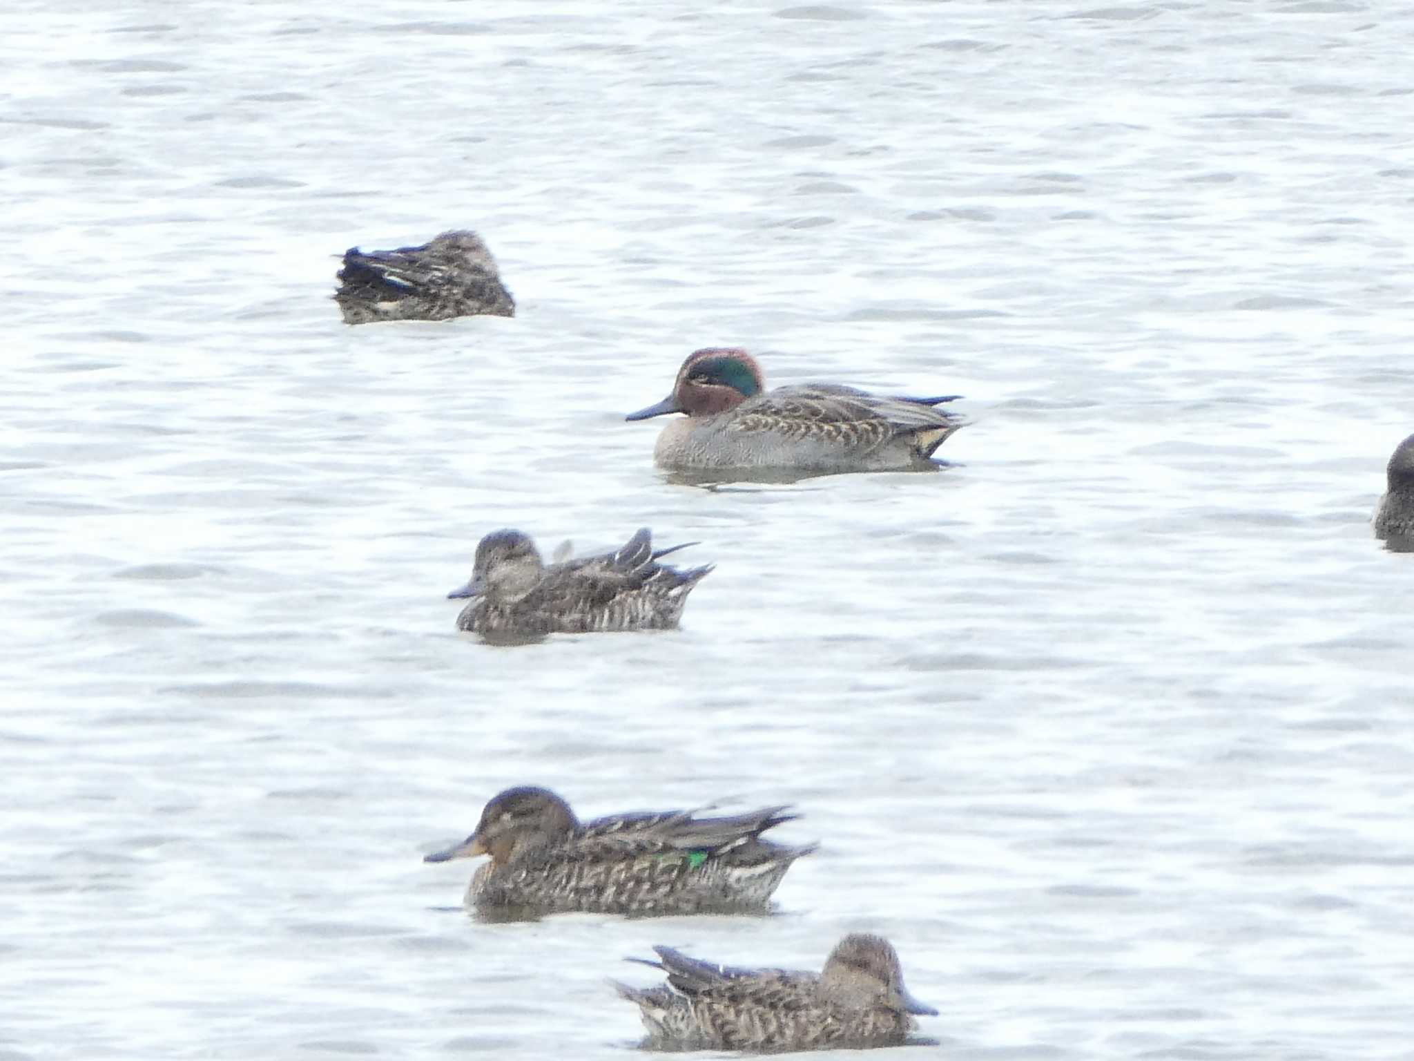
<svg viewBox="0 0 1414 1061"><path fill-rule="evenodd" d="M963 426L933 407L954 398L884 398L839 383L766 390L747 351L708 348L677 369L673 393L625 419L687 413L658 436L663 468L908 471L936 467L933 450Z"/></svg>

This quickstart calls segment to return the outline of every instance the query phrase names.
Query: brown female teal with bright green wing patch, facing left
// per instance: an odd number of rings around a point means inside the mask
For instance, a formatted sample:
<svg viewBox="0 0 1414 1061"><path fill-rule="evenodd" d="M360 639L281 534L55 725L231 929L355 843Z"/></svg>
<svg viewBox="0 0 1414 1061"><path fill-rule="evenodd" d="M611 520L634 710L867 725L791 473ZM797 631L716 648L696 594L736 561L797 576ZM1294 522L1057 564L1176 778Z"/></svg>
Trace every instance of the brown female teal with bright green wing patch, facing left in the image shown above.
<svg viewBox="0 0 1414 1061"><path fill-rule="evenodd" d="M467 890L467 905L479 910L762 914L790 864L814 850L761 839L796 818L785 809L730 818L662 811L581 823L549 789L508 788L486 804L477 832L424 862L489 854Z"/></svg>

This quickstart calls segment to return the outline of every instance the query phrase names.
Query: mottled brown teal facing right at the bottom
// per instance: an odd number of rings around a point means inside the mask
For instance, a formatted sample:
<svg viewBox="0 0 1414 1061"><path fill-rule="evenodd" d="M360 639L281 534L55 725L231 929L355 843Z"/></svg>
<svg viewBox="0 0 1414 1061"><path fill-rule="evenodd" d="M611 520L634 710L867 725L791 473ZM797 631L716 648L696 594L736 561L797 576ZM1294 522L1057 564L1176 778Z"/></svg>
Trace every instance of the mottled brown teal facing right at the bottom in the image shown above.
<svg viewBox="0 0 1414 1061"><path fill-rule="evenodd" d="M844 937L824 970L732 969L700 962L670 946L660 961L667 987L615 983L642 1010L658 1050L858 1050L889 1047L916 1027L911 1013L937 1016L904 987L892 945L877 935Z"/></svg>

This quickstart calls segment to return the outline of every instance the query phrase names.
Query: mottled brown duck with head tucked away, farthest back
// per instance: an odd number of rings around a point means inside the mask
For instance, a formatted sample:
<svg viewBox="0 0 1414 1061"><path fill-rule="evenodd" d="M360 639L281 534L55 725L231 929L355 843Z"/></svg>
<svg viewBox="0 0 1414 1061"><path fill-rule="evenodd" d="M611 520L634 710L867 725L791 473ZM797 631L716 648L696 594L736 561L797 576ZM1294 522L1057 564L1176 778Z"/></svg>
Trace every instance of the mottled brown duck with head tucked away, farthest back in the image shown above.
<svg viewBox="0 0 1414 1061"><path fill-rule="evenodd" d="M443 232L421 246L344 252L334 300L345 324L515 317L496 260L475 232Z"/></svg>

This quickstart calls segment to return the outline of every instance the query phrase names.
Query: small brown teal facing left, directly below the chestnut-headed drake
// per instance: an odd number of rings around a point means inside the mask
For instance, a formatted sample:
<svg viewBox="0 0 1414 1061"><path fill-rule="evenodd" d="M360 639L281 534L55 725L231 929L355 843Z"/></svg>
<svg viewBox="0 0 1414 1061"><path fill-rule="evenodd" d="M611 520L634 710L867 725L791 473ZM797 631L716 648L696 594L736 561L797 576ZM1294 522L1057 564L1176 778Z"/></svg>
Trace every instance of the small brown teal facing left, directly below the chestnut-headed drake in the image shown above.
<svg viewBox="0 0 1414 1061"><path fill-rule="evenodd" d="M458 630L492 637L670 630L693 586L713 570L658 563L684 547L655 552L645 526L615 553L546 567L529 535L493 530L477 545L471 581L447 596L472 598Z"/></svg>

